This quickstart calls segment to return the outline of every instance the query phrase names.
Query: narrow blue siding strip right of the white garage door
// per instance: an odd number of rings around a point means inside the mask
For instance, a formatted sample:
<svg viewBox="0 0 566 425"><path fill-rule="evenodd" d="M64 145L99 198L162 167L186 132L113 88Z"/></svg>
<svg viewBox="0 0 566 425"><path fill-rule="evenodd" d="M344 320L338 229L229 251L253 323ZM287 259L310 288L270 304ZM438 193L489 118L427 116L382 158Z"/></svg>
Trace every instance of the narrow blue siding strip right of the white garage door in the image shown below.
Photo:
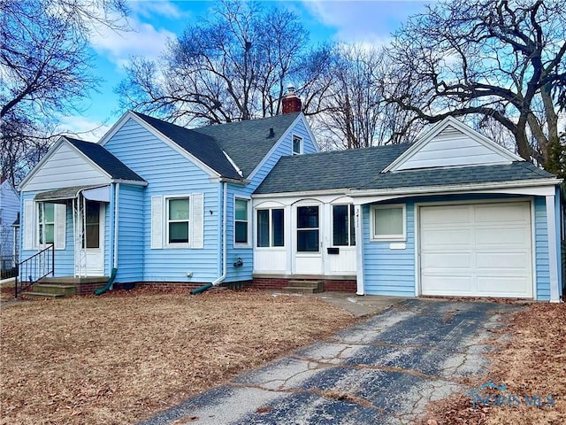
<svg viewBox="0 0 566 425"><path fill-rule="evenodd" d="M550 265L548 262L547 203L544 197L534 199L535 264L537 299L550 299Z"/></svg>

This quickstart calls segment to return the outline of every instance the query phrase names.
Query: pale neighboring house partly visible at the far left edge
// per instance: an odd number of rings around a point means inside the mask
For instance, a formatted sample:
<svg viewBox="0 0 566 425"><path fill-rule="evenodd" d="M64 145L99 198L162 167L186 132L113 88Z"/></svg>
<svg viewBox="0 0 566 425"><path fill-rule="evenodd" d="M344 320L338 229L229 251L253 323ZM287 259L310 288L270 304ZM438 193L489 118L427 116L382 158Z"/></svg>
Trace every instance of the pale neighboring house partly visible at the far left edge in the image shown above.
<svg viewBox="0 0 566 425"><path fill-rule="evenodd" d="M11 183L0 177L0 269L8 270L15 265L14 228L18 219L19 193Z"/></svg>

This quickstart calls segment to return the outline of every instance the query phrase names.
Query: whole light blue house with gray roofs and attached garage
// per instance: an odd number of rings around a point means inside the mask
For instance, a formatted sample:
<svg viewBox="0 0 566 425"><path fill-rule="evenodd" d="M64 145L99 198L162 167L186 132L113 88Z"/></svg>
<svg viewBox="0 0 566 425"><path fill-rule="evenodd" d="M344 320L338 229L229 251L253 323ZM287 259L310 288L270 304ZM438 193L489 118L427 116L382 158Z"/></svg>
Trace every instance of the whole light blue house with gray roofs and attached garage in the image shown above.
<svg viewBox="0 0 566 425"><path fill-rule="evenodd" d="M56 275L118 283L562 295L561 180L454 119L317 153L294 110L195 129L127 112L99 143L62 137L20 185L22 258L54 243Z"/></svg>

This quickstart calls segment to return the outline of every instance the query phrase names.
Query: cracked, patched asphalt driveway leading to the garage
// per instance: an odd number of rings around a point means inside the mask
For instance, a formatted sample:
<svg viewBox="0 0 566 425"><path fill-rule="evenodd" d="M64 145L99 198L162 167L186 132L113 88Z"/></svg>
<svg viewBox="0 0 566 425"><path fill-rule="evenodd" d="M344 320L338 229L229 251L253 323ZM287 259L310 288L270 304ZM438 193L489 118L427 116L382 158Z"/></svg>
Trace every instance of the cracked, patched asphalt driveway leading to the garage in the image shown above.
<svg viewBox="0 0 566 425"><path fill-rule="evenodd" d="M144 425L401 424L429 401L470 391L490 330L517 305L411 299L189 398Z"/></svg>

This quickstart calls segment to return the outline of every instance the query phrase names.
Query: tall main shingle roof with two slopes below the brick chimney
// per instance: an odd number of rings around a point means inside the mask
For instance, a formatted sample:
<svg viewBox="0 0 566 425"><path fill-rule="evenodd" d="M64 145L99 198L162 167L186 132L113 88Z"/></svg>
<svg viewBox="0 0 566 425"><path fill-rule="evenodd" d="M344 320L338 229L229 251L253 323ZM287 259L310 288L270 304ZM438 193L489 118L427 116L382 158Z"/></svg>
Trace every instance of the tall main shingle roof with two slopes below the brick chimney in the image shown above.
<svg viewBox="0 0 566 425"><path fill-rule="evenodd" d="M218 174L232 179L241 179L242 176L223 151L240 168L243 177L248 177L298 116L297 112L189 129L140 112L134 113ZM273 128L272 136L270 128Z"/></svg>

